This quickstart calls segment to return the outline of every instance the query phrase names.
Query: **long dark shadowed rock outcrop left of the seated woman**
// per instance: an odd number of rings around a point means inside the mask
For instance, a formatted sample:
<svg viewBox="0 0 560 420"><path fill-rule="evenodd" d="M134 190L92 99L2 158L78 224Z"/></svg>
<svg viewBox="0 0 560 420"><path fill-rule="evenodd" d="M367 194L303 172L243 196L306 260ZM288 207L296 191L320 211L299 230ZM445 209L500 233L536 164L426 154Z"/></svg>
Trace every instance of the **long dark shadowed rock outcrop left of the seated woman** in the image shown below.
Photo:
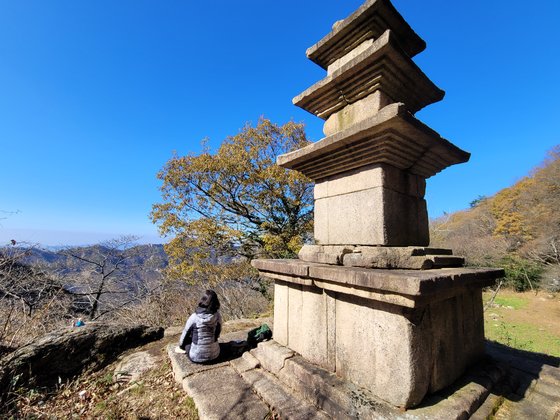
<svg viewBox="0 0 560 420"><path fill-rule="evenodd" d="M88 324L51 332L0 360L0 402L9 390L52 386L113 362L123 351L159 340L163 328Z"/></svg>

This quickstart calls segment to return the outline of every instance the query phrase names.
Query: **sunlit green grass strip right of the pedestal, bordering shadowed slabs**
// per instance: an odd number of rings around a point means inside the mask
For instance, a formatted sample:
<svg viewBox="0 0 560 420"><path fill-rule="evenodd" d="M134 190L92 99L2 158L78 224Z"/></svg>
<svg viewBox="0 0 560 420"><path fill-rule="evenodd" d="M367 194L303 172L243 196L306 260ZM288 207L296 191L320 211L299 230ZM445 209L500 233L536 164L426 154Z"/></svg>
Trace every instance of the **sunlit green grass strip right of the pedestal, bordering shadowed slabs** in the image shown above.
<svg viewBox="0 0 560 420"><path fill-rule="evenodd" d="M508 347L560 357L560 337L531 324L485 321L486 338Z"/></svg>

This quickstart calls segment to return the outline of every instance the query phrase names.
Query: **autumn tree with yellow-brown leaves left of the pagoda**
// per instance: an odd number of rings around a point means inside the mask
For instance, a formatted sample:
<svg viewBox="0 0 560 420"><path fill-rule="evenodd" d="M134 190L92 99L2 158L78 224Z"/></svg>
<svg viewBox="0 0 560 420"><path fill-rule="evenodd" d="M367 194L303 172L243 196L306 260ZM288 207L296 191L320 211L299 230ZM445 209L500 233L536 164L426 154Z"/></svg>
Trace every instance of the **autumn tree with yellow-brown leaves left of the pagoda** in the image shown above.
<svg viewBox="0 0 560 420"><path fill-rule="evenodd" d="M152 221L171 237L169 273L216 284L249 275L255 257L297 254L312 231L310 180L276 165L276 157L306 146L302 124L261 118L226 138L212 153L174 156L158 174L162 202Z"/></svg>

